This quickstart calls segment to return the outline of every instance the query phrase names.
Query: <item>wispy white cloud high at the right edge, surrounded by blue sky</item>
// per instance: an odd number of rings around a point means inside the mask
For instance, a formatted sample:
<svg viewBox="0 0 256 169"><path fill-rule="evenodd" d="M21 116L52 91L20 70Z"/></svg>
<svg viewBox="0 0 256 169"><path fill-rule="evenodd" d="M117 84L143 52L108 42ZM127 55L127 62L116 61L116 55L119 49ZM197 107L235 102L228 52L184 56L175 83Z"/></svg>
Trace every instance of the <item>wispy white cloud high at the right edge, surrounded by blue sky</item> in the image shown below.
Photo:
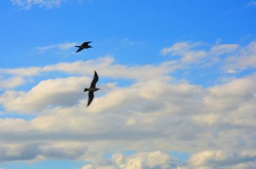
<svg viewBox="0 0 256 169"><path fill-rule="evenodd" d="M225 73L237 73L256 68L256 41L245 46L238 44L209 45L202 42L190 43L178 42L171 47L161 50L161 54L170 55L173 61L177 61L180 67L188 66L212 66L219 64ZM178 59L175 59L178 56Z"/></svg>

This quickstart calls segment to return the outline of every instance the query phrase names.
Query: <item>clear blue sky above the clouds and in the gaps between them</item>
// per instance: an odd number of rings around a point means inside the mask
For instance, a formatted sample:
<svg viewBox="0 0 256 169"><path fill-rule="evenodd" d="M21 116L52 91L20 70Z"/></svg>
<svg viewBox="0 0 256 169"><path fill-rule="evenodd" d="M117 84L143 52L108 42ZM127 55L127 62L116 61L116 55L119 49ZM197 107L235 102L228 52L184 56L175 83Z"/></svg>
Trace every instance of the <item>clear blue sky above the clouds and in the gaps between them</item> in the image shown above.
<svg viewBox="0 0 256 169"><path fill-rule="evenodd" d="M50 10L32 6L28 11L13 6L11 1L1 2L0 68L86 61L107 54L114 55L116 62L120 64L158 64L170 59L160 55L159 51L178 41L204 41L214 44L221 38L221 43L243 44L248 37L255 39L256 34L256 8L246 6L250 0L74 2L76 1L67 1ZM71 55L53 51L39 54L35 50L35 47L74 41L93 41L93 48ZM75 51L76 48L68 50L68 54L72 50ZM177 71L173 75L186 78L193 84L212 85L220 73L214 73L214 67L207 71L211 73L204 74L200 68L193 68L188 72ZM253 71L255 70L243 71L237 76L243 77ZM202 75L198 76L198 73ZM61 73L56 73L53 77L57 76L65 77ZM42 78L44 76L36 77L33 83ZM19 89L28 90L33 83ZM121 85L125 84L128 82L121 82ZM171 154L178 154L179 159L184 160L189 156L180 155L180 152ZM0 168L65 169L79 168L82 165L76 161L56 160L33 164L4 163Z"/></svg>

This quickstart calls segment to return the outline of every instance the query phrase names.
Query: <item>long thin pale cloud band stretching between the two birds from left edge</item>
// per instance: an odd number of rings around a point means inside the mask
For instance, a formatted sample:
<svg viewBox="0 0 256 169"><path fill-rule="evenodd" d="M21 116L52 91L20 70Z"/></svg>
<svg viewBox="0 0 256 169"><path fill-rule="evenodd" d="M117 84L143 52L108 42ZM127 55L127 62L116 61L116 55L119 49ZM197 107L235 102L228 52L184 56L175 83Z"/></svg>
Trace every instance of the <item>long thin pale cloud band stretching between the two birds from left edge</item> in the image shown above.
<svg viewBox="0 0 256 169"><path fill-rule="evenodd" d="M162 62L158 65L126 66L115 63L114 57L106 56L89 61L60 62L43 67L0 69L0 73L4 75L30 77L52 71L61 71L69 75L92 75L93 70L97 70L100 72L100 76L103 77L145 80L153 77L161 77L177 68L178 66L173 61Z"/></svg>

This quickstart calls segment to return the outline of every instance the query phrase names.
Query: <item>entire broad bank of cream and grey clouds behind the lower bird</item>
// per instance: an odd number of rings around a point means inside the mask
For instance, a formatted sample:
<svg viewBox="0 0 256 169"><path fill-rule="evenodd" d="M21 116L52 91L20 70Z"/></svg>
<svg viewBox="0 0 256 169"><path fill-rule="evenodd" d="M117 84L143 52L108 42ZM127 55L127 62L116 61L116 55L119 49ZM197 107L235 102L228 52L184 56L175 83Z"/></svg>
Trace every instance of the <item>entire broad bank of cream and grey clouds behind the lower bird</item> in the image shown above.
<svg viewBox="0 0 256 169"><path fill-rule="evenodd" d="M181 58L191 50L204 50L205 55L196 58L199 60L207 54L225 55L225 63L231 58L236 63L232 68L239 66L239 55L253 57L253 42L245 47L216 44L204 49L201 45L180 43L165 52L176 52ZM180 61L182 58L156 65L126 66L117 64L113 57L102 57L1 69L2 80L5 76L41 77L42 73L55 71L67 75L40 79L27 90L4 88L0 104L7 114L32 115L28 119L1 117L1 161L54 158L92 162L83 169L253 166L256 74L205 87L171 76L181 68ZM101 90L86 107L83 88L90 84L93 70L99 73L97 85ZM118 84L120 78L129 83ZM106 152L122 151L135 153L114 153L113 158L104 158ZM191 158L180 163L167 153L173 151L189 152Z"/></svg>

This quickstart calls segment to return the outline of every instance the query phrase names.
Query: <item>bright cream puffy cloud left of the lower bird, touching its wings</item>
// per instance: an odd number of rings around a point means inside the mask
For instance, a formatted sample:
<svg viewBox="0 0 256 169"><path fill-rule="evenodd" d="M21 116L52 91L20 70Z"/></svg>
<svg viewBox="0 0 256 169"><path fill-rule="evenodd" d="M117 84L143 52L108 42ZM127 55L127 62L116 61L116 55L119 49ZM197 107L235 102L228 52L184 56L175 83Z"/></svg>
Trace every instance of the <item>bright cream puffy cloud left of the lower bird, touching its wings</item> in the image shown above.
<svg viewBox="0 0 256 169"><path fill-rule="evenodd" d="M90 80L86 77L44 80L29 92L5 92L0 103L6 110L18 112L35 112L51 105L73 105L83 97L84 84L90 84Z"/></svg>

